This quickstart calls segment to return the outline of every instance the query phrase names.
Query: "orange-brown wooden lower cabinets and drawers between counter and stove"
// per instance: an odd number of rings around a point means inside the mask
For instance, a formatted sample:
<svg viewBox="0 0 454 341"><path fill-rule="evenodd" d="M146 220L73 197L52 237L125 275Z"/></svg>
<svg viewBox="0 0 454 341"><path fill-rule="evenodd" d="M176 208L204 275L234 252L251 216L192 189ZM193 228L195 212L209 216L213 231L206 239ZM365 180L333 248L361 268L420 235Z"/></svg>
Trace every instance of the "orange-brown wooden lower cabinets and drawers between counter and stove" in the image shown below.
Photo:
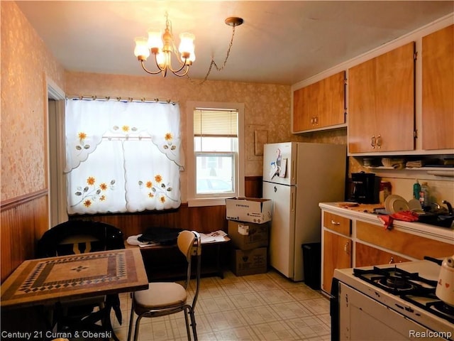
<svg viewBox="0 0 454 341"><path fill-rule="evenodd" d="M454 239L442 233L444 229L439 234L433 229L426 231L423 224L411 229L395 224L392 229L384 229L380 222L370 219L376 218L375 215L367 214L367 219L363 220L348 209L335 209L321 212L321 289L326 293L331 293L334 269L397 264L424 259L424 256L444 258L454 254Z"/></svg>

